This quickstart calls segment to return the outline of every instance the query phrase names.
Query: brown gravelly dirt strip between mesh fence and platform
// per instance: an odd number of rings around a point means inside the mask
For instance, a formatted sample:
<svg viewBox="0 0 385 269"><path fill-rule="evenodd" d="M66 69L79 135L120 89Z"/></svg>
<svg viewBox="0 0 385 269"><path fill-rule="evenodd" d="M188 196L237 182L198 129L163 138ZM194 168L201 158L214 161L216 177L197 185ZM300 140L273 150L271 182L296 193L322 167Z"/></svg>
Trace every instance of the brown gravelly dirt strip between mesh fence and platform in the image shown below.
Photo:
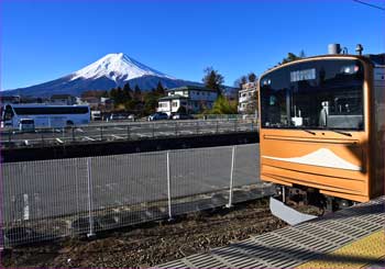
<svg viewBox="0 0 385 269"><path fill-rule="evenodd" d="M20 246L2 253L2 267L55 268L146 268L210 248L226 246L274 231L286 224L274 217L268 200L238 204L109 231L96 239L66 238L38 245Z"/></svg>

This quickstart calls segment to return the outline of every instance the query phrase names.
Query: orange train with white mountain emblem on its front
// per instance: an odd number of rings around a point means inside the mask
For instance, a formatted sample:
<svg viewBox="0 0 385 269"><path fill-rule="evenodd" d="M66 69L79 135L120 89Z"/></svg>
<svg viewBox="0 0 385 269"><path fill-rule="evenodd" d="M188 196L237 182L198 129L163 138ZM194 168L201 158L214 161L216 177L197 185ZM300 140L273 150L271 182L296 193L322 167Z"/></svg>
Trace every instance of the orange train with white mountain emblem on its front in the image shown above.
<svg viewBox="0 0 385 269"><path fill-rule="evenodd" d="M384 65L385 54L333 54L263 74L262 180L344 202L384 194Z"/></svg>

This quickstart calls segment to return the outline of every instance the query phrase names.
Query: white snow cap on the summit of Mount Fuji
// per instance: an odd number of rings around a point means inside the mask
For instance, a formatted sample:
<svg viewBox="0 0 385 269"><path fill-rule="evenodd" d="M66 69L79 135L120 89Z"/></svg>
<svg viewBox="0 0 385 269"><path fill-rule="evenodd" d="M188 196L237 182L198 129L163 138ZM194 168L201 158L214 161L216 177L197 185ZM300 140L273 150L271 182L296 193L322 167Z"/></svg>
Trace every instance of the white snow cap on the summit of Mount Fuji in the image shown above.
<svg viewBox="0 0 385 269"><path fill-rule="evenodd" d="M86 66L85 68L74 72L72 80L96 79L100 77L109 78L113 81L127 81L143 76L157 76L164 78L173 77L152 69L138 60L124 55L123 53L108 54L99 60Z"/></svg>

